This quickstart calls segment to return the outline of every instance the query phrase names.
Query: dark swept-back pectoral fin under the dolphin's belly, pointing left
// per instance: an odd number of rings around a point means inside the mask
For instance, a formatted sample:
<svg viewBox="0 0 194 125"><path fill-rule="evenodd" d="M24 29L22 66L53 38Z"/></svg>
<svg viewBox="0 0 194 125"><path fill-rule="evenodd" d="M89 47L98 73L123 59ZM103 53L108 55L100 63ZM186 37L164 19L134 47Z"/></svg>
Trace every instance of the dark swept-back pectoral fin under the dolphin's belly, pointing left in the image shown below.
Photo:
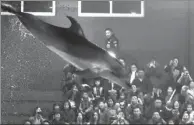
<svg viewBox="0 0 194 125"><path fill-rule="evenodd" d="M83 71L75 71L74 74L83 77L83 78L96 78L98 75L95 72L92 72L90 69L85 69Z"/></svg>

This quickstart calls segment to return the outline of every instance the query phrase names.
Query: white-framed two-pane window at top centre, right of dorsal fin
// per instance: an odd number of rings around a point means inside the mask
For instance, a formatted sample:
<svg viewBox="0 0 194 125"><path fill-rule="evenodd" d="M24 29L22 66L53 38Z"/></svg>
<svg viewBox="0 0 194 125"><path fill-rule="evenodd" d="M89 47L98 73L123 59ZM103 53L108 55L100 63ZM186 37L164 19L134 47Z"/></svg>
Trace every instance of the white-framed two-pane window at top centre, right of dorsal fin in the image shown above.
<svg viewBox="0 0 194 125"><path fill-rule="evenodd" d="M78 16L144 17L144 1L78 1Z"/></svg>

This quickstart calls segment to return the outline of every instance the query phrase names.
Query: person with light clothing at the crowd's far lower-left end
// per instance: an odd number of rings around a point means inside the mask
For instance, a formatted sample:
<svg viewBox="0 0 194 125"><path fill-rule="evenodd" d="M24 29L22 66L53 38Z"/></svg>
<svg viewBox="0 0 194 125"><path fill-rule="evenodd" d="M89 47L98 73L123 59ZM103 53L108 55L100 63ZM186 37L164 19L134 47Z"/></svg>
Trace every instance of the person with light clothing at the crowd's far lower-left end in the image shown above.
<svg viewBox="0 0 194 125"><path fill-rule="evenodd" d="M29 121L36 125L42 124L45 120L46 119L42 116L42 109L40 107L36 107L34 116L29 118Z"/></svg>

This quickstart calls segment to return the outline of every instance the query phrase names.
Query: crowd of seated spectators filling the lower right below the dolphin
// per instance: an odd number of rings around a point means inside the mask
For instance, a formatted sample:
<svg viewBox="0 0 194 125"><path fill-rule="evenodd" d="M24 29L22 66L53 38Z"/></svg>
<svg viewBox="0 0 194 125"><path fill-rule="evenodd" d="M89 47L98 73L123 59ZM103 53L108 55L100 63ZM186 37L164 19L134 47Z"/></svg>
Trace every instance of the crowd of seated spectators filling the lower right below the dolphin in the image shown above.
<svg viewBox="0 0 194 125"><path fill-rule="evenodd" d="M37 107L25 124L194 124L194 82L186 67L177 58L164 67L153 59L145 67L130 65L125 89L76 76L67 65L63 104L54 104L47 117Z"/></svg>

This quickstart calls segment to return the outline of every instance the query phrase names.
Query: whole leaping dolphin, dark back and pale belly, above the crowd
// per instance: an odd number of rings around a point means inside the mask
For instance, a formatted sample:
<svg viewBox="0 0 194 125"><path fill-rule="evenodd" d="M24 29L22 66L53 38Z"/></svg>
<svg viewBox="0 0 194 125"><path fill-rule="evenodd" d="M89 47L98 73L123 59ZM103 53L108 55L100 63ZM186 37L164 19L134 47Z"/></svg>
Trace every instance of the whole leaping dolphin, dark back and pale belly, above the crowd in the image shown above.
<svg viewBox="0 0 194 125"><path fill-rule="evenodd" d="M102 77L123 88L128 88L124 81L126 69L116 57L105 49L86 39L80 24L70 16L69 28L51 25L38 17L20 12L13 6L2 3L1 9L13 13L32 35L50 51L64 61L76 67L74 73L84 78Z"/></svg>

